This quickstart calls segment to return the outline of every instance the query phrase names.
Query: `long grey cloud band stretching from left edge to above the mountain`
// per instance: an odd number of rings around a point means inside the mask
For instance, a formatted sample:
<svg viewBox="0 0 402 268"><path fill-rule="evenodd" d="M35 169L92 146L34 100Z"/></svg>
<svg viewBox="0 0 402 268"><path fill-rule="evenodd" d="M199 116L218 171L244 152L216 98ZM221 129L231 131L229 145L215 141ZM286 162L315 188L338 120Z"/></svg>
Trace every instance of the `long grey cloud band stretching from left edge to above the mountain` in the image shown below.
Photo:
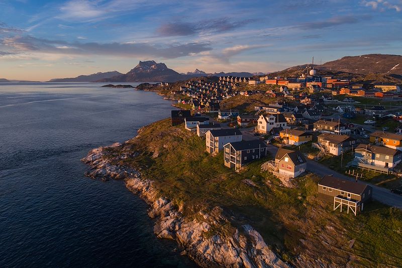
<svg viewBox="0 0 402 268"><path fill-rule="evenodd" d="M43 52L64 55L102 55L121 57L178 58L212 50L208 43L184 43L167 46L149 43L79 43L40 39L33 36L5 38L3 44L14 52Z"/></svg>

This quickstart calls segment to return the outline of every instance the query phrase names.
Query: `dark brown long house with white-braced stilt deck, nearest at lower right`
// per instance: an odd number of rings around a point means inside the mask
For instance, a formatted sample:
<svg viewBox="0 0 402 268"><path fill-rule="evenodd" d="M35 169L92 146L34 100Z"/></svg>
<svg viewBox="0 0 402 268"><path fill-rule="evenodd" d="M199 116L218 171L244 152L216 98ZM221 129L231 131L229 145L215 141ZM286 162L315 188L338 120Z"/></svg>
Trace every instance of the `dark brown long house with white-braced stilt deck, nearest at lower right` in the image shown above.
<svg viewBox="0 0 402 268"><path fill-rule="evenodd" d="M356 215L363 211L364 204L370 201L373 188L369 185L343 180L331 175L324 176L318 183L318 197L334 204L334 210L343 206Z"/></svg>

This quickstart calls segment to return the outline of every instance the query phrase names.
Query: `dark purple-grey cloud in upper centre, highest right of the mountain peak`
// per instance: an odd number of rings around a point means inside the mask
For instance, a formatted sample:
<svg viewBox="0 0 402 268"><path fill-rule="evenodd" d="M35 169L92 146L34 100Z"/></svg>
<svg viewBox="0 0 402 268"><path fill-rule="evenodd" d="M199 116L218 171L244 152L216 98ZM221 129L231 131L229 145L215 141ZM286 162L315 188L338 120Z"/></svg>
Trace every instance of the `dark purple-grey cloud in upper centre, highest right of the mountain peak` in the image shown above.
<svg viewBox="0 0 402 268"><path fill-rule="evenodd" d="M168 22L156 29L159 36L188 36L194 34L212 34L232 31L246 26L254 20L231 21L229 18L198 22Z"/></svg>

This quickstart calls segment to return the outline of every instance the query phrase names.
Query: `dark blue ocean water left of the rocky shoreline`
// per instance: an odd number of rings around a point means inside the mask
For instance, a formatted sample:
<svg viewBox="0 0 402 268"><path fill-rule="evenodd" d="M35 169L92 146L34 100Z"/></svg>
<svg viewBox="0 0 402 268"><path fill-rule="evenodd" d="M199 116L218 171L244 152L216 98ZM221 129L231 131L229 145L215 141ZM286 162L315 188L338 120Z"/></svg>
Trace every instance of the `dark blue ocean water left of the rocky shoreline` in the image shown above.
<svg viewBox="0 0 402 268"><path fill-rule="evenodd" d="M137 83L131 83L136 85ZM153 234L123 182L80 158L170 116L171 103L97 83L0 83L0 267L194 267Z"/></svg>

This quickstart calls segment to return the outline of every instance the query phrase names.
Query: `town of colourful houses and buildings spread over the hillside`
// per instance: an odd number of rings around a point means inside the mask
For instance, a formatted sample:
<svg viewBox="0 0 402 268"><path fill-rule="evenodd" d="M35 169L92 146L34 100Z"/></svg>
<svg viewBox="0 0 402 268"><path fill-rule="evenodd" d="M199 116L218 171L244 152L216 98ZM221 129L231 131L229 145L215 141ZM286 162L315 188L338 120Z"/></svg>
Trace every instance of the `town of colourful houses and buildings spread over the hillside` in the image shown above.
<svg viewBox="0 0 402 268"><path fill-rule="evenodd" d="M205 139L212 157L223 151L219 161L228 168L266 158L262 170L284 186L308 172L322 174L318 197L354 215L373 195L380 199L378 187L402 194L396 84L356 84L309 67L299 77L199 78L171 94L183 109L172 111L172 125ZM272 101L252 107L253 95ZM225 108L236 98L250 100L248 107Z"/></svg>

